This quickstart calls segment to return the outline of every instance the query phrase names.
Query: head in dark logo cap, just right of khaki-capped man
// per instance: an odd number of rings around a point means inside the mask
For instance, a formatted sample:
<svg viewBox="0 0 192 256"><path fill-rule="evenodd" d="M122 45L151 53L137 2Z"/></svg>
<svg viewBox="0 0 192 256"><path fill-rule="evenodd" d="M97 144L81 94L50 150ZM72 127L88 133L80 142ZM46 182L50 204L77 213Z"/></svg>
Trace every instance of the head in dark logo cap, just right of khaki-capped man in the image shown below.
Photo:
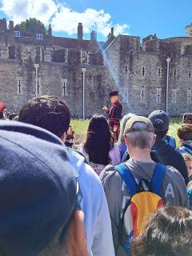
<svg viewBox="0 0 192 256"><path fill-rule="evenodd" d="M157 135L157 140L162 140L169 130L170 118L168 114L163 110L154 110L148 118L154 126L154 134Z"/></svg>

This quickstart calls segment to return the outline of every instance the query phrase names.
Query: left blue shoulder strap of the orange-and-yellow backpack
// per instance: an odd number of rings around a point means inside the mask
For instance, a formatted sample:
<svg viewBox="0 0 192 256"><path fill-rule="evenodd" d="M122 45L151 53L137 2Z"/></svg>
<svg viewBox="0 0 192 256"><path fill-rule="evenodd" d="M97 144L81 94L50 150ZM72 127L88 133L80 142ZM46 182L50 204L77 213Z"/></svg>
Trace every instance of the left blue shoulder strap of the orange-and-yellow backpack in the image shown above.
<svg viewBox="0 0 192 256"><path fill-rule="evenodd" d="M130 192L131 197L138 192L138 184L135 182L134 175L131 174L130 169L124 163L120 163L118 166L114 166L115 170L121 176L122 180L126 183L127 189Z"/></svg>

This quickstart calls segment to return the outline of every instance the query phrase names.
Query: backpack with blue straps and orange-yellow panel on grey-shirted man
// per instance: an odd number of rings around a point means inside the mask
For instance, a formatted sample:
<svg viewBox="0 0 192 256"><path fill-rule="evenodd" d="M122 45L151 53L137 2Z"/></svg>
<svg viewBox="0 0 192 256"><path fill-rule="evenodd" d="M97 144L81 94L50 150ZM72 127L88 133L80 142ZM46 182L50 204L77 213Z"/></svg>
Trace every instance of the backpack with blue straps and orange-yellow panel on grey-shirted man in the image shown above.
<svg viewBox="0 0 192 256"><path fill-rule="evenodd" d="M131 238L142 234L150 214L154 214L164 203L161 198L162 181L166 166L158 163L150 181L135 181L134 175L124 163L115 166L130 193L122 218L118 225L118 241L126 253L130 254Z"/></svg>

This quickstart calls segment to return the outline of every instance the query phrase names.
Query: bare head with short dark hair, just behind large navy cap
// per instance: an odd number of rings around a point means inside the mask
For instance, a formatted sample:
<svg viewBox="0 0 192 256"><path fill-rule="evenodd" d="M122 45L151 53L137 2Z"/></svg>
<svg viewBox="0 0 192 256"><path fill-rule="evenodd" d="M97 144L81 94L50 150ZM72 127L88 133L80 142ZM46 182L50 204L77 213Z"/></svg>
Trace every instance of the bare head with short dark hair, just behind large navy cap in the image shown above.
<svg viewBox="0 0 192 256"><path fill-rule="evenodd" d="M42 127L62 138L70 126L70 110L55 96L41 96L22 106L18 121Z"/></svg>

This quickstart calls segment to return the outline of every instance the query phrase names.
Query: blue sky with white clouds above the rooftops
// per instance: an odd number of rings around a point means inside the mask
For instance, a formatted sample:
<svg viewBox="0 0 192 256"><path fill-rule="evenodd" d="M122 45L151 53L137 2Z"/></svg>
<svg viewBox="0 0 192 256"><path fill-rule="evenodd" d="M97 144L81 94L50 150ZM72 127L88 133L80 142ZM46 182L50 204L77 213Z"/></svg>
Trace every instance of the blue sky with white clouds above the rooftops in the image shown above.
<svg viewBox="0 0 192 256"><path fill-rule="evenodd" d="M76 37L78 22L84 25L84 38L90 30L105 40L114 26L115 34L141 38L156 33L158 38L185 36L184 27L192 22L192 0L0 0L0 17L23 19L35 17L54 34Z"/></svg>

